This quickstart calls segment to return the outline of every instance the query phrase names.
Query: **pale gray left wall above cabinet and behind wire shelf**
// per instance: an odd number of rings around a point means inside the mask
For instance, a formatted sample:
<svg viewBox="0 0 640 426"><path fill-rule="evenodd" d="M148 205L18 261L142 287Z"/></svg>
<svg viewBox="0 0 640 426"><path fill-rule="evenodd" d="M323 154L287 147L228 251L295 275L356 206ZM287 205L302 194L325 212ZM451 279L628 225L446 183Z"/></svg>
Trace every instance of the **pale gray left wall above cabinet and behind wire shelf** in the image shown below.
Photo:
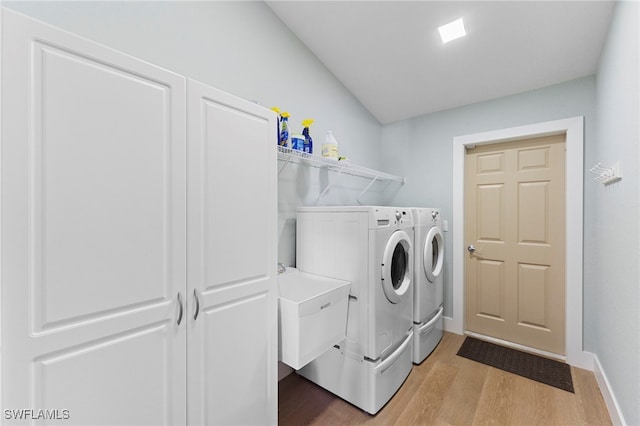
<svg viewBox="0 0 640 426"><path fill-rule="evenodd" d="M316 149L332 130L341 155L366 167L380 166L378 121L261 1L2 4L236 96L278 106L291 113L293 131L302 130L303 119L314 118ZM295 208L316 204L335 178L318 169L282 167L280 261L295 265ZM354 204L368 182L346 178L337 183L320 204ZM362 201L381 203L383 186L372 189Z"/></svg>

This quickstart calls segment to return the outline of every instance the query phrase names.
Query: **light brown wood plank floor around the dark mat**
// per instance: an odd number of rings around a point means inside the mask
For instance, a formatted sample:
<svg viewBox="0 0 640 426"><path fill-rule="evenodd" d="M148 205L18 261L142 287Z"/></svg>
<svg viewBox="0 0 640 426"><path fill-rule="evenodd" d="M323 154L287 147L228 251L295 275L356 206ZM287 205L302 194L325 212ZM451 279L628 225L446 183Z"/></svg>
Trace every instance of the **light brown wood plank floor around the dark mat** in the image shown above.
<svg viewBox="0 0 640 426"><path fill-rule="evenodd" d="M280 425L610 425L593 373L571 367L575 394L456 356L445 333L376 416L291 374L280 381Z"/></svg>

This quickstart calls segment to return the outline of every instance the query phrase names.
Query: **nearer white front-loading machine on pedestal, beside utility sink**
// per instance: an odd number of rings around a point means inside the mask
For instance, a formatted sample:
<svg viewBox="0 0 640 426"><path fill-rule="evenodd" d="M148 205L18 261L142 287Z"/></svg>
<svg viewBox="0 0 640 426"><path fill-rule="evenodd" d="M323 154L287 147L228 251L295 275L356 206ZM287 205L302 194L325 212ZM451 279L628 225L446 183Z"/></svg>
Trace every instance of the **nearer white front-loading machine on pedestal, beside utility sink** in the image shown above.
<svg viewBox="0 0 640 426"><path fill-rule="evenodd" d="M351 282L346 339L299 374L375 414L412 368L411 210L305 207L297 213L298 269Z"/></svg>

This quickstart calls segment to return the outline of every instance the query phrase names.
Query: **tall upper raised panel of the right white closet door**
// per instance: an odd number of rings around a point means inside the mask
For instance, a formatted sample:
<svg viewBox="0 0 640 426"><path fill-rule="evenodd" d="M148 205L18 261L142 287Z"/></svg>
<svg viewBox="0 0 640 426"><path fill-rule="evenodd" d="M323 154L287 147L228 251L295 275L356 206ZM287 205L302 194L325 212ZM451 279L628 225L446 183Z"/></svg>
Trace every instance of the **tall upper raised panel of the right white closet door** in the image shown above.
<svg viewBox="0 0 640 426"><path fill-rule="evenodd" d="M208 256L203 264L205 289L269 278L273 215L268 209L274 198L274 166L269 163L274 148L266 137L270 122L206 98L200 113L206 144L201 163Z"/></svg>

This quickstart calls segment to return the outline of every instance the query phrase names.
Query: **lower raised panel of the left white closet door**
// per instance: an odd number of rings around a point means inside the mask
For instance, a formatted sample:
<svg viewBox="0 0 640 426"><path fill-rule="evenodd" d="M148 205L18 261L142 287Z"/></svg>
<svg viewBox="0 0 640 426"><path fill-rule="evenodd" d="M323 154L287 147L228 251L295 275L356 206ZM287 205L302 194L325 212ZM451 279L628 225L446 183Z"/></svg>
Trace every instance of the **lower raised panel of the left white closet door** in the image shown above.
<svg viewBox="0 0 640 426"><path fill-rule="evenodd" d="M68 410L65 424L182 424L172 419L168 394L174 385L159 374L172 359L170 329L155 323L38 357L32 365L34 406Z"/></svg>

